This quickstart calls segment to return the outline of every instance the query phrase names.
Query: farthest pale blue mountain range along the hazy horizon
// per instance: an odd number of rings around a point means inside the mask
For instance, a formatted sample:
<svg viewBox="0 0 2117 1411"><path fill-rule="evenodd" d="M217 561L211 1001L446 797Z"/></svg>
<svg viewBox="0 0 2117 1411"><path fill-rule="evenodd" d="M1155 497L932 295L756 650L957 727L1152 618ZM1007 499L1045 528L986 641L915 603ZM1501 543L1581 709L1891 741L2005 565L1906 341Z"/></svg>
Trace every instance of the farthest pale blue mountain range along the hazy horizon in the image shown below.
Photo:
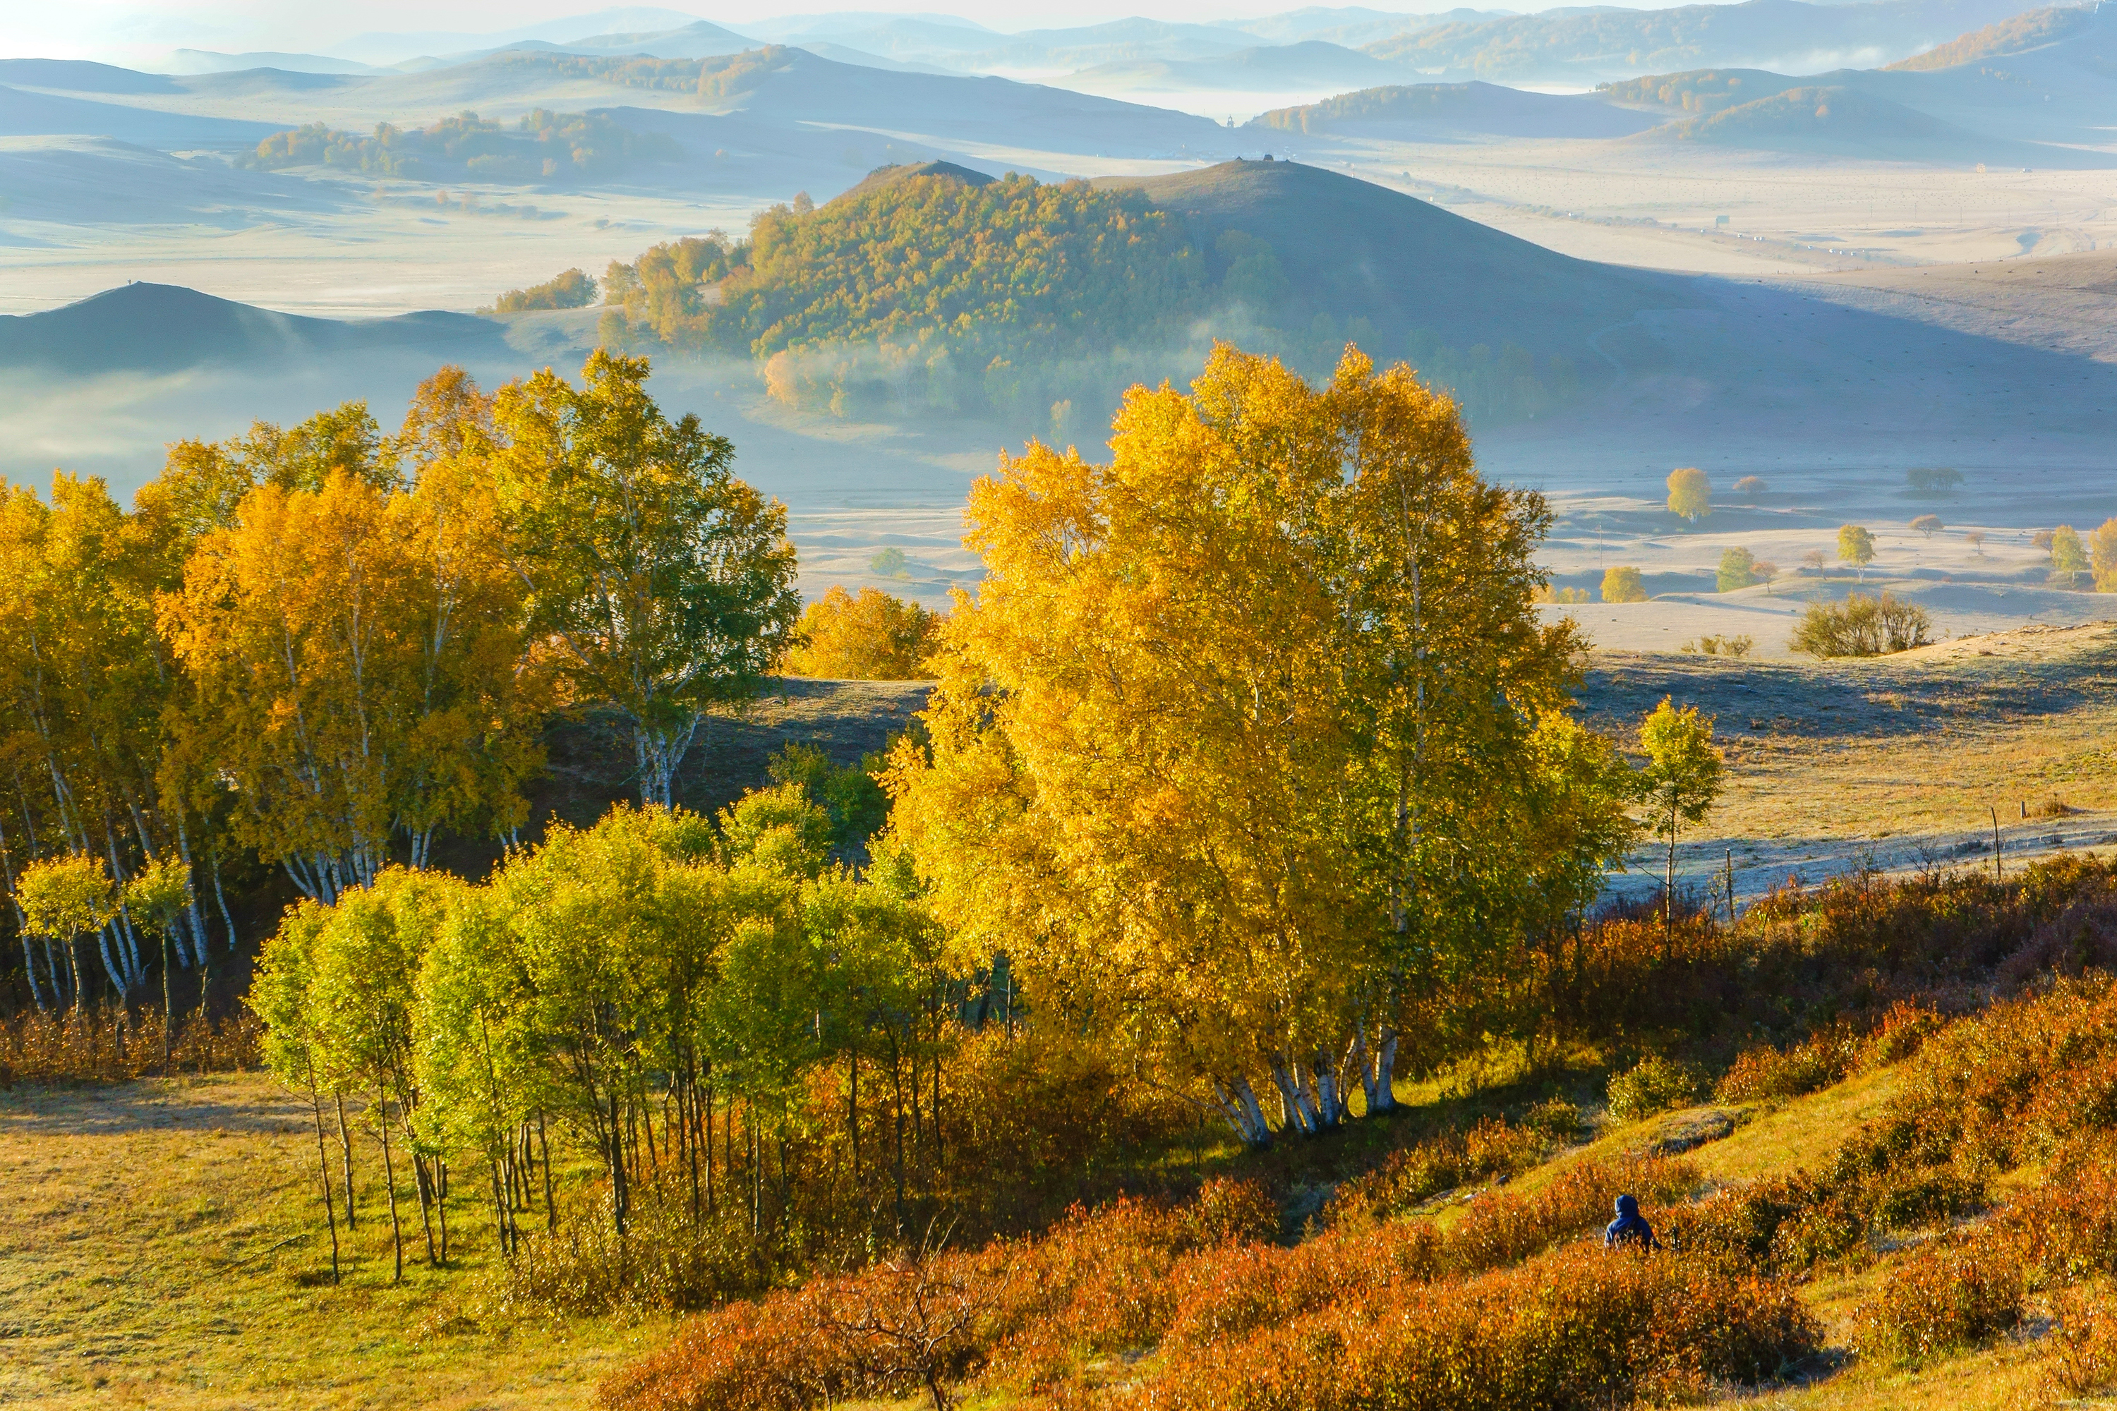
<svg viewBox="0 0 2117 1411"><path fill-rule="evenodd" d="M576 15L491 34L360 34L318 53L182 49L167 72L279 68L296 72L423 70L502 49L635 53L692 59L766 42L845 63L1037 76L1082 87L1211 87L1283 72L1291 80L1374 85L1421 78L1594 85L1704 66L1814 72L1884 66L2011 19L2022 0L1742 0L1677 8L1569 6L1535 15L1450 8L1427 15L1361 6L1302 8L1245 21L1118 19L995 32L938 15L840 13L739 28L658 6ZM1310 47L1338 51L1329 61ZM1308 51L1283 53L1283 51ZM1224 68L1234 55L1249 55ZM1357 55L1357 57L1355 57ZM1152 66L1177 66L1156 74ZM1359 66L1368 68L1361 70Z"/></svg>

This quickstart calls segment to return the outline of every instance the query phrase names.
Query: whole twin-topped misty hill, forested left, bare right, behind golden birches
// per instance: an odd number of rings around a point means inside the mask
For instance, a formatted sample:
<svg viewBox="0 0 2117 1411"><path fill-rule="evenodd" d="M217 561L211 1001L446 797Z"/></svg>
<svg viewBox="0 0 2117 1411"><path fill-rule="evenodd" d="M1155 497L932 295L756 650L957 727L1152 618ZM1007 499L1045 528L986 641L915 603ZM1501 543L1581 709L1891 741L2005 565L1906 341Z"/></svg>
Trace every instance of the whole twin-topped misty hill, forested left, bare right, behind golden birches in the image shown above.
<svg viewBox="0 0 2117 1411"><path fill-rule="evenodd" d="M754 358L775 398L876 413L1103 408L1215 336L1323 372L1412 358L1473 415L1537 415L1588 338L1675 286L1573 260L1408 195L1283 161L1039 184L889 167L603 275L601 338Z"/></svg>

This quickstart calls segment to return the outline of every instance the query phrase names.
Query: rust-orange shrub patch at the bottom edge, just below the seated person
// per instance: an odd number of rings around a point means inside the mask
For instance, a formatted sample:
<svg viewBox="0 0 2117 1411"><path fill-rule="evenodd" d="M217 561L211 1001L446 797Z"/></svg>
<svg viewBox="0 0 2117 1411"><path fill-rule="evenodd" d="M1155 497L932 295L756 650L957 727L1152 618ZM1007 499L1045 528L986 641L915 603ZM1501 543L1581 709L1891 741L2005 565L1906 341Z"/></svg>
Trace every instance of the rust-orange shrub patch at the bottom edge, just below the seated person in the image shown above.
<svg viewBox="0 0 2117 1411"><path fill-rule="evenodd" d="M1177 1352L1116 1400L1154 1411L1564 1411L1755 1381L1816 1341L1785 1284L1575 1244L1461 1284L1349 1297L1243 1343Z"/></svg>

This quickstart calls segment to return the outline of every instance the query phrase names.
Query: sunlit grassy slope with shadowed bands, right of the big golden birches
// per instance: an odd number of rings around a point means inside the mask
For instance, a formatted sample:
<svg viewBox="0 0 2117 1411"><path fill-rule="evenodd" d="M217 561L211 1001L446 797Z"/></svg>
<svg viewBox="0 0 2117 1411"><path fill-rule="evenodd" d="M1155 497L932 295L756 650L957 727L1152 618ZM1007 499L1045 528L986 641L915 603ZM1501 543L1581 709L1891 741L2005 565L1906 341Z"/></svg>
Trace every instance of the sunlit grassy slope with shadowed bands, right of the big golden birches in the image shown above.
<svg viewBox="0 0 2117 1411"><path fill-rule="evenodd" d="M1662 696L1717 721L1727 793L1679 884L1738 895L1876 867L2001 867L2117 844L2117 626L2022 626L1869 660L1596 652L1588 715L1624 734ZM1660 884L1647 848L1620 891Z"/></svg>

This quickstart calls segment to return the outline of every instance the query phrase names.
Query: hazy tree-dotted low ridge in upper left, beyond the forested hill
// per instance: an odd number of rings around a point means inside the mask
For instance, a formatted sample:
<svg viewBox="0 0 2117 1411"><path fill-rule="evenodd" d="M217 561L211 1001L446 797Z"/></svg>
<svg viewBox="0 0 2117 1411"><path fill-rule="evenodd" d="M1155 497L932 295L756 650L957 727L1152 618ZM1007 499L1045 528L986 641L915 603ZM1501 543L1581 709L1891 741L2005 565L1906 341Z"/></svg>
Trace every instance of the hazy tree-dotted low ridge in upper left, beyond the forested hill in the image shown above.
<svg viewBox="0 0 2117 1411"><path fill-rule="evenodd" d="M377 123L373 135L309 123L258 142L239 167L341 167L402 180L550 182L616 176L641 161L673 161L682 148L663 133L635 133L603 112L536 108L510 129L476 112L430 127Z"/></svg>

